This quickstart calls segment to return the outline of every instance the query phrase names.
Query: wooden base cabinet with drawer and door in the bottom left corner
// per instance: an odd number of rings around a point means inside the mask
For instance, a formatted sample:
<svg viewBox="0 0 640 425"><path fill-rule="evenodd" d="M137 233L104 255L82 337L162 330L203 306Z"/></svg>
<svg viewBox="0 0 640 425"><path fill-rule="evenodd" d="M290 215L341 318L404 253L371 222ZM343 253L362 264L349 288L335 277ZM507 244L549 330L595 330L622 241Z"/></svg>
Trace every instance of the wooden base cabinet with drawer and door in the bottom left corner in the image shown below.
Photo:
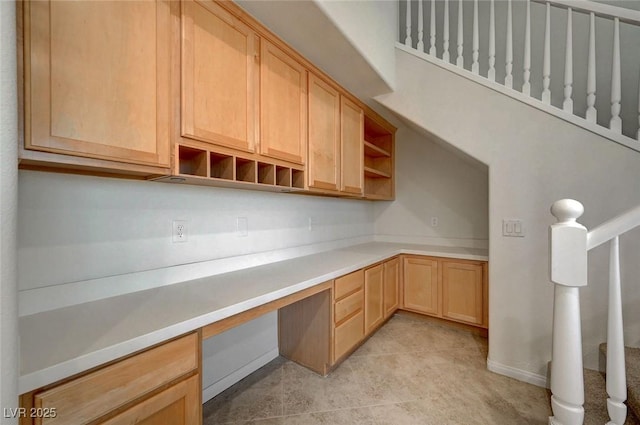
<svg viewBox="0 0 640 425"><path fill-rule="evenodd" d="M197 333L21 397L21 425L199 424L200 339Z"/></svg>

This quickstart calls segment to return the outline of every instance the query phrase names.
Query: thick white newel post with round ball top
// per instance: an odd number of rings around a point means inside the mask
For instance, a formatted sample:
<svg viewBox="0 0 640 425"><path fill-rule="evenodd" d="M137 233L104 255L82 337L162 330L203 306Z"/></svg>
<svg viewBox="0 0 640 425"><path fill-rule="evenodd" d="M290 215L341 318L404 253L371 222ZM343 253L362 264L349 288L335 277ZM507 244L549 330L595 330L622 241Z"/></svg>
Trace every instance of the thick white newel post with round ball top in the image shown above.
<svg viewBox="0 0 640 425"><path fill-rule="evenodd" d="M583 212L582 204L572 199L551 207L558 222L551 225L549 235L555 284L550 425L581 425L584 420L579 290L587 285L587 229L576 221Z"/></svg>

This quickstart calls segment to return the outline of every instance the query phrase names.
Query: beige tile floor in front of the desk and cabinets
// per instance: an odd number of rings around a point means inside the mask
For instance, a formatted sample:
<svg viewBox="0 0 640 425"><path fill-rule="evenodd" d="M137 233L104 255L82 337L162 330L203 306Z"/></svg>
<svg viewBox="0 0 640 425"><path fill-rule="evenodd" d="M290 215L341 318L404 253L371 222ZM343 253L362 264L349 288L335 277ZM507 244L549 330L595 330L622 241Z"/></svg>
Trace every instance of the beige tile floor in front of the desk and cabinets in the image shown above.
<svg viewBox="0 0 640 425"><path fill-rule="evenodd" d="M277 358L203 406L204 424L546 424L547 390L487 371L487 340L395 315L328 377Z"/></svg>

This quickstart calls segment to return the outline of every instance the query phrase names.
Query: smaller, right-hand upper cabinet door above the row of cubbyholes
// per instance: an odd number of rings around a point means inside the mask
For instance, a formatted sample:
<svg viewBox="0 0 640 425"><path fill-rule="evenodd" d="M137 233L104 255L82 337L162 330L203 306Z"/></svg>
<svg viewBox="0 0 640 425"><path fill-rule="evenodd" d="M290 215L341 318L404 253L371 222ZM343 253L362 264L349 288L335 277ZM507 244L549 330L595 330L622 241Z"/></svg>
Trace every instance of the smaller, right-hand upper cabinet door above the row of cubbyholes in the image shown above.
<svg viewBox="0 0 640 425"><path fill-rule="evenodd" d="M260 153L304 164L307 146L307 71L262 40Z"/></svg>

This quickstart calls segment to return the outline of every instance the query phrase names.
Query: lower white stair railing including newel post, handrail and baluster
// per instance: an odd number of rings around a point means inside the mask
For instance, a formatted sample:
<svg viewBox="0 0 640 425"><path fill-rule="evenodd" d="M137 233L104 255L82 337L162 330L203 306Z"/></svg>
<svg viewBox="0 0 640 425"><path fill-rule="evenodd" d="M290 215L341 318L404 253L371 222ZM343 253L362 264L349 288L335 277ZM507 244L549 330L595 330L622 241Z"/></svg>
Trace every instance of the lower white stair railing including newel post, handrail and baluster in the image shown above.
<svg viewBox="0 0 640 425"><path fill-rule="evenodd" d="M587 252L610 242L607 323L608 424L623 425L627 416L622 291L618 238L640 226L640 206L587 232L576 220L584 208L562 199L551 207L558 222L550 228L551 281L555 284L551 359L552 425L580 425L584 420L582 336L579 288L587 285Z"/></svg>

